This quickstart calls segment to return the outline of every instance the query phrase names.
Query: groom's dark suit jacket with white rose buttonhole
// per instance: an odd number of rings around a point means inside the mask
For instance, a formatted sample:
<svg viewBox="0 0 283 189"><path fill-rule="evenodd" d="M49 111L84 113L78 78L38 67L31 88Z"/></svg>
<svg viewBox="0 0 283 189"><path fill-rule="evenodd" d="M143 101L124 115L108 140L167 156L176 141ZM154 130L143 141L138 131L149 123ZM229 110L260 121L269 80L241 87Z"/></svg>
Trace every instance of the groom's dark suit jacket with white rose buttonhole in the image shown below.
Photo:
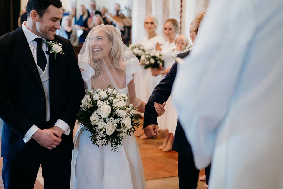
<svg viewBox="0 0 283 189"><path fill-rule="evenodd" d="M23 138L35 124L40 129L53 127L58 119L73 131L75 115L84 95L83 79L70 41L58 35L65 54L49 54L50 121L46 122L45 93L32 52L22 27L0 37L0 117L4 121L1 156L11 160L31 160L40 156L34 139ZM60 149L73 149L72 132L62 134ZM55 148L55 149L57 149Z"/></svg>

